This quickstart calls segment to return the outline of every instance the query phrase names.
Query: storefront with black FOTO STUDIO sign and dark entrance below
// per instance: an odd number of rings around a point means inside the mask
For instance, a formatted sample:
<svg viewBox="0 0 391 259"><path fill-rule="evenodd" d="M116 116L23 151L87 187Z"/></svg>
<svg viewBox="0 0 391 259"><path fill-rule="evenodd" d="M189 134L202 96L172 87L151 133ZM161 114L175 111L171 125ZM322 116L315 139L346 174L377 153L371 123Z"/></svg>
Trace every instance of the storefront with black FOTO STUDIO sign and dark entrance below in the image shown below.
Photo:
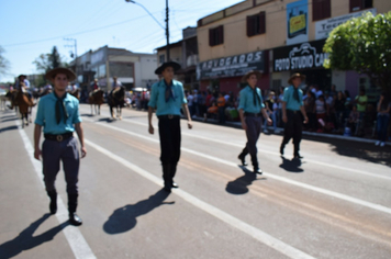
<svg viewBox="0 0 391 259"><path fill-rule="evenodd" d="M288 79L293 72L306 76L305 85L317 85L328 89L332 85L332 71L323 67L327 54L323 53L325 40L308 42L272 50L273 86L288 87ZM280 82L280 83L278 83Z"/></svg>

